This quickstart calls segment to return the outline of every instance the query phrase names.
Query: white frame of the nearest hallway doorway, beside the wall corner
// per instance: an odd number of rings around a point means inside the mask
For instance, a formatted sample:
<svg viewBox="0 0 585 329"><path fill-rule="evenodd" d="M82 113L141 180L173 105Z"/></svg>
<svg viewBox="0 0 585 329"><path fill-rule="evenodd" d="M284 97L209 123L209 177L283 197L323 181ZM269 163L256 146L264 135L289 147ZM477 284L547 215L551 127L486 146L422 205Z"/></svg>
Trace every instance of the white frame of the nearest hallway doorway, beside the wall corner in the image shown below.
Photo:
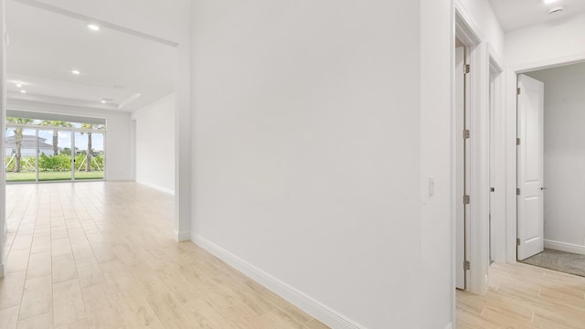
<svg viewBox="0 0 585 329"><path fill-rule="evenodd" d="M468 51L469 65L471 73L466 83L469 83L470 100L468 101L470 110L470 164L471 170L469 182L469 195L471 197L468 206L466 225L467 236L466 245L469 252L466 259L470 262L469 280L466 282L466 290L474 293L483 293L487 289L487 264L489 261L489 252L487 245L487 197L486 192L488 185L487 166L483 164L487 154L487 128L488 117L487 98L485 96L489 88L489 65L486 60L486 43L483 43L483 34L477 27L472 16L466 11L459 2L455 3L455 37L457 37ZM454 72L453 72L454 73ZM454 83L454 82L453 82ZM454 93L453 85L453 93ZM455 124L455 108L452 107L452 209L456 209L463 199L456 196L455 177L456 162L454 159L456 150L456 139L461 137L463 132L457 131ZM454 220L454 219L453 219ZM455 232L456 233L456 232ZM453 233L453 234L455 234ZM453 254L456 259L456 254ZM454 264L454 266L463 266L463 264ZM456 270L456 268L454 269Z"/></svg>

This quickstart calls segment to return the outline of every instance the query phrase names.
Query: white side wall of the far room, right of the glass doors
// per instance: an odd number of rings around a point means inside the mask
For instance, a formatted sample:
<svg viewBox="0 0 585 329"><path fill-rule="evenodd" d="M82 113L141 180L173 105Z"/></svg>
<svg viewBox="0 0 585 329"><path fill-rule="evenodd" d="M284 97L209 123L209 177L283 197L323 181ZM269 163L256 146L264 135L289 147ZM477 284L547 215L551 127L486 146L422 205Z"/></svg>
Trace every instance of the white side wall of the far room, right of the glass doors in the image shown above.
<svg viewBox="0 0 585 329"><path fill-rule="evenodd" d="M136 182L175 194L175 94L134 111Z"/></svg>

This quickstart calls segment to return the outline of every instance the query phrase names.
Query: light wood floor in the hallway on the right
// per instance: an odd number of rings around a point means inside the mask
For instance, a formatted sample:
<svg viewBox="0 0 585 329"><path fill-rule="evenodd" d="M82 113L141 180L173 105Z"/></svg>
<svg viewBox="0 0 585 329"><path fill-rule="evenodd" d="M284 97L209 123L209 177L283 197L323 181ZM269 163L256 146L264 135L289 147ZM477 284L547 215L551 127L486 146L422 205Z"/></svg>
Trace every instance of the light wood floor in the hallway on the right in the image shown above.
<svg viewBox="0 0 585 329"><path fill-rule="evenodd" d="M585 278L526 264L493 264L483 296L457 292L457 329L585 328Z"/></svg>

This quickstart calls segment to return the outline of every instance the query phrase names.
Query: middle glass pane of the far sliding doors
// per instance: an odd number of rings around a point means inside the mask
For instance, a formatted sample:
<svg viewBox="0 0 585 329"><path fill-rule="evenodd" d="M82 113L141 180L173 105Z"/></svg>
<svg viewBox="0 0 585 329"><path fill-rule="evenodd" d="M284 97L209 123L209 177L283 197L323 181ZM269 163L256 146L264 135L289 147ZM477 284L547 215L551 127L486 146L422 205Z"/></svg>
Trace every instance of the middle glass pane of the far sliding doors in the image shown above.
<svg viewBox="0 0 585 329"><path fill-rule="evenodd" d="M38 131L38 180L71 179L71 132Z"/></svg>

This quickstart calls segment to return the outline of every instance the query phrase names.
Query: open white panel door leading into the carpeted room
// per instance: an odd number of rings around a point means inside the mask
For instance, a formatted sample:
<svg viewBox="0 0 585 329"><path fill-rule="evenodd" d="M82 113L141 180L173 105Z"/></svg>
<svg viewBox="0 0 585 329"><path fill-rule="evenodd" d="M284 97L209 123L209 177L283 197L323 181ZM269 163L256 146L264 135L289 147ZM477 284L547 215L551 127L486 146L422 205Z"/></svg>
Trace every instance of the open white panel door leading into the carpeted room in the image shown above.
<svg viewBox="0 0 585 329"><path fill-rule="evenodd" d="M544 83L518 75L518 260L544 250Z"/></svg>

